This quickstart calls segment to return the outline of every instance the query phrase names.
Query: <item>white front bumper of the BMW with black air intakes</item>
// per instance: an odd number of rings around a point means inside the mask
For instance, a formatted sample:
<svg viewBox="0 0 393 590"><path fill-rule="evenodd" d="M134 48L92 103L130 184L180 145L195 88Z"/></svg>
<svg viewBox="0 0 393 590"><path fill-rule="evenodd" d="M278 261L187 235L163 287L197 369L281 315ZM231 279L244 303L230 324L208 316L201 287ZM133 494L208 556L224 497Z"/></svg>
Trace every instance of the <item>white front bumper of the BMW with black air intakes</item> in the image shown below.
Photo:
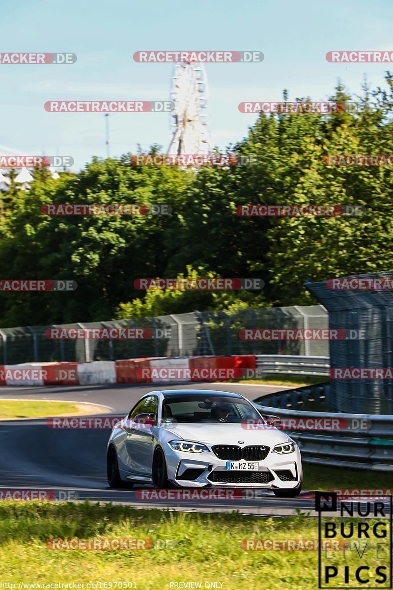
<svg viewBox="0 0 393 590"><path fill-rule="evenodd" d="M260 489L292 489L302 480L302 460L299 448L293 453L279 455L270 450L260 461L257 471L228 471L227 461L213 451L191 455L174 450L169 443L164 448L168 478L179 487L257 487Z"/></svg>

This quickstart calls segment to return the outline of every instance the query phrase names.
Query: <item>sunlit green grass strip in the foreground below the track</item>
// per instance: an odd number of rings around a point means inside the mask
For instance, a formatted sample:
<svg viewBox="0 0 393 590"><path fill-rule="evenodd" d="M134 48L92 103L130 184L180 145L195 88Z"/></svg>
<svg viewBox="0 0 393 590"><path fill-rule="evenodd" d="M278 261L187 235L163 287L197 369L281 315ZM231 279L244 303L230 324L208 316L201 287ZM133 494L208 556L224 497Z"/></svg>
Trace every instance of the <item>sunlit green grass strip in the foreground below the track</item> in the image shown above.
<svg viewBox="0 0 393 590"><path fill-rule="evenodd" d="M317 526L317 519L302 514L273 519L111 504L2 503L1 581L101 581L112 582L113 588L115 582L136 582L139 590L169 589L170 582L190 581L202 582L204 588L205 582L216 581L223 583L224 590L314 590L317 551L247 551L240 542L318 539ZM48 549L47 540L57 537L173 539L176 546L134 551Z"/></svg>

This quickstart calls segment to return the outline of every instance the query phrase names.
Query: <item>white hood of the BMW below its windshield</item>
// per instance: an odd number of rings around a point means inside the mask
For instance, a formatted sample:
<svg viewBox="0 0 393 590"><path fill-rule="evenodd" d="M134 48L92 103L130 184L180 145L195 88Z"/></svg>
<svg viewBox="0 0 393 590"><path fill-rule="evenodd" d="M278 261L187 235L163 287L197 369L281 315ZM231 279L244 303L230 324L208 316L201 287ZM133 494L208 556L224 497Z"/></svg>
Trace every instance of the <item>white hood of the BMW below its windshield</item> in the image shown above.
<svg viewBox="0 0 393 590"><path fill-rule="evenodd" d="M278 428L267 430L247 430L242 424L177 424L171 430L172 438L182 438L206 444L237 445L243 441L245 445L267 445L269 447L287 442L289 437Z"/></svg>

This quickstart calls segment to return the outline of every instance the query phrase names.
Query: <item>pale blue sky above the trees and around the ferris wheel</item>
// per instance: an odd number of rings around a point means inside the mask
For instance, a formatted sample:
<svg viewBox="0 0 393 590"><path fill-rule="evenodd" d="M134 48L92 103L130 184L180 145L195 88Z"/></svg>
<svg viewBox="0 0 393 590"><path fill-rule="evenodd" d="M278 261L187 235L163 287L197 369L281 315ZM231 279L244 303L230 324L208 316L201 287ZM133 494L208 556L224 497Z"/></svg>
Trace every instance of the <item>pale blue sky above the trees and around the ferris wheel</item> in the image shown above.
<svg viewBox="0 0 393 590"><path fill-rule="evenodd" d="M168 100L173 64L133 61L138 50L259 50L262 63L208 64L209 130L220 149L242 139L255 114L245 100L325 100L338 78L359 93L366 75L383 85L393 64L332 64L330 50L393 50L393 2L330 0L2 0L0 51L68 51L70 65L0 65L0 152L72 156L80 169L104 157L105 121L96 113L47 113L47 100ZM111 156L167 149L169 114L110 115Z"/></svg>

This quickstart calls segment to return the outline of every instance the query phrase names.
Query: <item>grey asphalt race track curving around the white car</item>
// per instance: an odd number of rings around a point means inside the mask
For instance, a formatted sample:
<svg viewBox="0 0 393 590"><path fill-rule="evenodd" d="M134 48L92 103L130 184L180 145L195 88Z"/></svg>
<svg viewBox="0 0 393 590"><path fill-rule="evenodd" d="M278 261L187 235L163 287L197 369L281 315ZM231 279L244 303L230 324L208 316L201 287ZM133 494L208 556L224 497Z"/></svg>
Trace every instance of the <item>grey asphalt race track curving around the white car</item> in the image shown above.
<svg viewBox="0 0 393 590"><path fill-rule="evenodd" d="M277 386L212 384L202 385L97 385L59 387L4 387L0 399L51 399L88 402L108 407L105 415L126 415L141 395L154 389L216 389L233 391L248 399L285 389ZM103 414L100 414L102 417ZM259 491L258 497L228 500L142 500L132 490L114 490L106 479L108 429L53 429L46 419L0 422L0 491L61 490L74 492L78 500L127 503L140 508L171 508L195 512L232 512L286 516L302 510L316 515L312 494L302 492L296 499L279 499L272 492ZM248 490L249 492L250 490ZM250 495L250 494L249 494Z"/></svg>

